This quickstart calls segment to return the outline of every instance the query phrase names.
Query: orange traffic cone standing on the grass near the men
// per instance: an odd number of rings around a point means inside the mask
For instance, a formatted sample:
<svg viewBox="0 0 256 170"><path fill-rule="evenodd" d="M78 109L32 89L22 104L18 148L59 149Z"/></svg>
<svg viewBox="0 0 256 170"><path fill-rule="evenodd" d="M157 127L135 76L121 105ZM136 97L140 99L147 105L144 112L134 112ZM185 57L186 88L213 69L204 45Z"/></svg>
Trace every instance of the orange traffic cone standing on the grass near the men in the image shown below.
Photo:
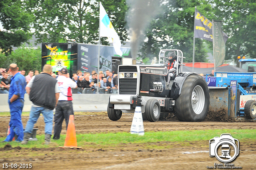
<svg viewBox="0 0 256 170"><path fill-rule="evenodd" d="M59 146L59 147L60 148L82 148L82 147L77 147L74 115L69 116L65 143L64 143L64 146Z"/></svg>

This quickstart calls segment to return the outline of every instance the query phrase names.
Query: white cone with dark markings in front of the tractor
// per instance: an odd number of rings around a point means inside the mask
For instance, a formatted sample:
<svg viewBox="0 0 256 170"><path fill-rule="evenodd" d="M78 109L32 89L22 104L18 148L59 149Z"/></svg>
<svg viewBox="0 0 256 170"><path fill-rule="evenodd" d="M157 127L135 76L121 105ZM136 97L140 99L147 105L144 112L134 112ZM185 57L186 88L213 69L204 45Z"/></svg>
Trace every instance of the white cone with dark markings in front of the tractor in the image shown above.
<svg viewBox="0 0 256 170"><path fill-rule="evenodd" d="M136 106L135 108L130 133L144 135L143 118L140 106Z"/></svg>

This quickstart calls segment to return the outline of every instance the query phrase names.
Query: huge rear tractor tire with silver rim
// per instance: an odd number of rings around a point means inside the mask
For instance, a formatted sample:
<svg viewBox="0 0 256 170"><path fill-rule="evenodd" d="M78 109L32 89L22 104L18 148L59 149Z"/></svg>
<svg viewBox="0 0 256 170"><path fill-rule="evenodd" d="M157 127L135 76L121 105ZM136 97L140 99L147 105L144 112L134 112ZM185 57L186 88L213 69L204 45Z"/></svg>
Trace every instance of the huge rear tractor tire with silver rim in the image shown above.
<svg viewBox="0 0 256 170"><path fill-rule="evenodd" d="M206 81L193 74L186 78L181 94L175 100L174 111L180 121L201 122L207 115L209 104L210 94Z"/></svg>

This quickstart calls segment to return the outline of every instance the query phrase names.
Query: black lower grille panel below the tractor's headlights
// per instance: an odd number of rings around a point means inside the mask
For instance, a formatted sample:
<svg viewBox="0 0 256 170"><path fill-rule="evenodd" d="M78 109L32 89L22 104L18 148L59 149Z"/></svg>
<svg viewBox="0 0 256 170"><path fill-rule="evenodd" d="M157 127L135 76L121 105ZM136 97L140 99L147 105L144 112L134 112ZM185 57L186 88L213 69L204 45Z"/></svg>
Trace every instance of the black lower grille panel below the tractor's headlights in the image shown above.
<svg viewBox="0 0 256 170"><path fill-rule="evenodd" d="M137 79L136 78L120 78L119 94L136 94Z"/></svg>

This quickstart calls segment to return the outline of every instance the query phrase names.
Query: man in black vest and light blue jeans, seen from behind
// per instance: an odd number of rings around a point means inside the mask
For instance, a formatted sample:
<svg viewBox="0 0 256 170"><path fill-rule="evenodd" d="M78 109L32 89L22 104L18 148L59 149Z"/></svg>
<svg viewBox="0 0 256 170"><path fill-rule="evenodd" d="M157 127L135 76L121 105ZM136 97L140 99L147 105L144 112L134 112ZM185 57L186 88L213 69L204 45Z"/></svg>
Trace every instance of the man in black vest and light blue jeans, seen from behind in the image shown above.
<svg viewBox="0 0 256 170"><path fill-rule="evenodd" d="M26 91L29 94L29 99L33 102L29 120L24 130L24 137L21 144L27 144L28 139L32 136L34 124L38 120L40 113L44 116L45 122L45 144L50 144L52 136L52 120L53 111L60 95L57 80L50 73L52 66L45 64L43 73L33 76L26 86Z"/></svg>

